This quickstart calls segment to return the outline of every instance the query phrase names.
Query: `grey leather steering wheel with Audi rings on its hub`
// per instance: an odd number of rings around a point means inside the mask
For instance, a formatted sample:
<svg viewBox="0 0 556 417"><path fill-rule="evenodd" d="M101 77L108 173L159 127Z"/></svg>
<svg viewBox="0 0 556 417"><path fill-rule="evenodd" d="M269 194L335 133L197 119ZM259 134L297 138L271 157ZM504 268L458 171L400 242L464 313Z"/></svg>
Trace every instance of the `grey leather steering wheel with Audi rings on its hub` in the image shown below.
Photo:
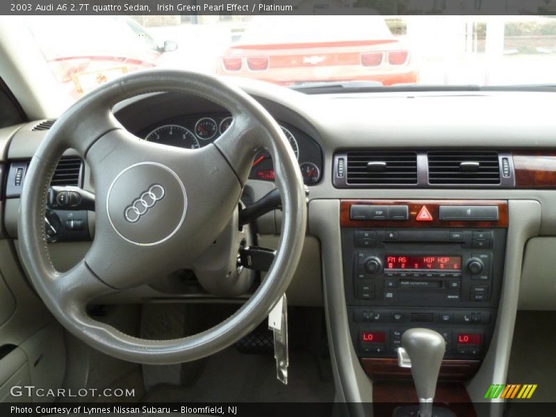
<svg viewBox="0 0 556 417"><path fill-rule="evenodd" d="M139 140L112 113L151 92L183 92L227 108L233 122L213 144L182 149ZM87 161L96 194L96 231L83 260L58 272L44 232L47 190L66 149ZM136 338L86 311L91 300L146 284L194 261L237 213L257 150L267 149L281 191L283 222L275 260L243 306L205 332L173 340ZM203 74L137 72L111 81L70 107L28 167L19 213L22 261L49 310L72 334L113 357L149 364L193 361L251 332L286 291L306 228L306 197L295 155L277 122L243 90Z"/></svg>

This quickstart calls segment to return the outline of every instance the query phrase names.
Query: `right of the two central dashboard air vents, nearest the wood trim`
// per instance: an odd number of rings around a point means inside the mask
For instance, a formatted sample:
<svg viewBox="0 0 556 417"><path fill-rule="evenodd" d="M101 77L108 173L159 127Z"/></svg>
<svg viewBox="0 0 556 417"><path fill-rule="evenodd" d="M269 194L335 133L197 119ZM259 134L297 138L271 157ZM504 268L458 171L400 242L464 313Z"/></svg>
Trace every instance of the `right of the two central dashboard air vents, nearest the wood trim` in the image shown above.
<svg viewBox="0 0 556 417"><path fill-rule="evenodd" d="M497 152L429 152L432 185L494 186L500 184Z"/></svg>

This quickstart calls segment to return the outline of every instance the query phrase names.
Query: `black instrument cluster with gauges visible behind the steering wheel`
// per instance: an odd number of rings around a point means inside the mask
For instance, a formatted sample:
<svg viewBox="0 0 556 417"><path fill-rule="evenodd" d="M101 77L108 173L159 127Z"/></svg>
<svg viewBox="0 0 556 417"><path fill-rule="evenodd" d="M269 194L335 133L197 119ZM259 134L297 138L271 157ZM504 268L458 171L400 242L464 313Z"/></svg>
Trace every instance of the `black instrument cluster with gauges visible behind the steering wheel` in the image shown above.
<svg viewBox="0 0 556 417"><path fill-rule="evenodd" d="M229 113L185 114L149 124L138 136L163 145L199 149L220 138L232 123ZM322 178L322 151L317 142L291 124L279 121L279 125L297 158L304 183L318 183ZM267 151L256 154L249 178L274 181L274 165Z"/></svg>

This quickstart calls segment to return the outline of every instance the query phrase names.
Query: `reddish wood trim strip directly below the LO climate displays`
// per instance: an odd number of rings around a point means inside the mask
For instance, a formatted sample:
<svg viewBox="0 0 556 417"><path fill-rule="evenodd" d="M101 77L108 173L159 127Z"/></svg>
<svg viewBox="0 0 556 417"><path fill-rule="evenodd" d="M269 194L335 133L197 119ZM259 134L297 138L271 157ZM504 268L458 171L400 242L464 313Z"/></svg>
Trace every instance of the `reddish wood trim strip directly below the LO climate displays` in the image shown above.
<svg viewBox="0 0 556 417"><path fill-rule="evenodd" d="M400 368L398 359L361 358L361 366L374 380L412 380L411 369ZM464 382L473 377L480 366L481 361L446 359L440 367L439 381Z"/></svg>

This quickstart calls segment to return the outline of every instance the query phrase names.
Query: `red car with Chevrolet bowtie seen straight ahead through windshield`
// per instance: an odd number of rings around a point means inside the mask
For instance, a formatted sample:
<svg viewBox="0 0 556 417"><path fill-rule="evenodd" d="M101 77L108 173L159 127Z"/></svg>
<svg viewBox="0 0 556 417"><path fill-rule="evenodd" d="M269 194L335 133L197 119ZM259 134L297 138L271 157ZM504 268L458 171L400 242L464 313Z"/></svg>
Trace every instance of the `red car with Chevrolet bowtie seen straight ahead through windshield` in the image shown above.
<svg viewBox="0 0 556 417"><path fill-rule="evenodd" d="M418 81L409 49L379 16L254 17L220 58L217 73L280 85Z"/></svg>

